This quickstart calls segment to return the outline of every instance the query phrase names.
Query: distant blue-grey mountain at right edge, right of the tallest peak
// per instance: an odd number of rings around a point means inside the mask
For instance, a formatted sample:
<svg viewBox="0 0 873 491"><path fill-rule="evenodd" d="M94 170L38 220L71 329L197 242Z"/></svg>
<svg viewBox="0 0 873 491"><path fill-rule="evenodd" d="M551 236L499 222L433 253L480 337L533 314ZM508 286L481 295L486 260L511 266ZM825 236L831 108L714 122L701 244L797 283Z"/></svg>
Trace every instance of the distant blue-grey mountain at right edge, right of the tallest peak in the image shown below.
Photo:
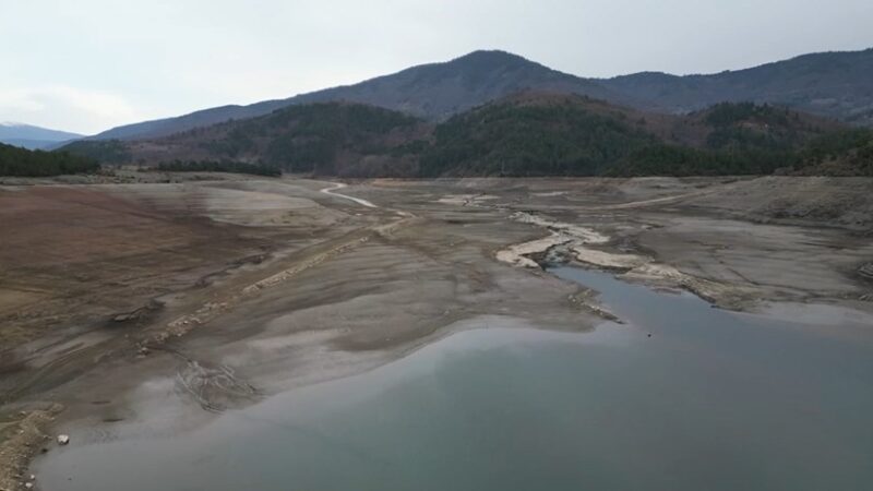
<svg viewBox="0 0 873 491"><path fill-rule="evenodd" d="M873 125L873 49L804 55L710 75L645 72L597 83L671 112L753 101Z"/></svg>

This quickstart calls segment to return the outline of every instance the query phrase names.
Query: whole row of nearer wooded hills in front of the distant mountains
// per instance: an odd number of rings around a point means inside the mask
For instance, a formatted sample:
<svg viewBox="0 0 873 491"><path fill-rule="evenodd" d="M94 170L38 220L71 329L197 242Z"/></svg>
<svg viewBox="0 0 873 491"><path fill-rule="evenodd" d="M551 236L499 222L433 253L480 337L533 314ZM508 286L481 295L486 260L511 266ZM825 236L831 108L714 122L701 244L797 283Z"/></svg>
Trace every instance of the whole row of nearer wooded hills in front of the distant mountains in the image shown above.
<svg viewBox="0 0 873 491"><path fill-rule="evenodd" d="M822 163L827 173L865 171L858 158L868 153L856 149L869 130L847 128L752 103L666 115L525 91L440 123L356 103L314 103L169 136L80 141L64 149L165 170L255 166L260 173L346 177L750 175Z"/></svg>

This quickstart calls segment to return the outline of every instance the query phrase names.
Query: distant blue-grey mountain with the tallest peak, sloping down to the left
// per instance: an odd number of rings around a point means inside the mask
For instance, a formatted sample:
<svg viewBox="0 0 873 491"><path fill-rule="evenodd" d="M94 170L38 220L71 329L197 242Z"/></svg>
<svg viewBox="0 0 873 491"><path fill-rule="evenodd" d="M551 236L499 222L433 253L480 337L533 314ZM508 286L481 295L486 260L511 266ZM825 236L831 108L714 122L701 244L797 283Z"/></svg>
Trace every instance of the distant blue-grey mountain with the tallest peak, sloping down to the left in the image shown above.
<svg viewBox="0 0 873 491"><path fill-rule="evenodd" d="M283 107L321 101L350 101L379 106L408 115L441 121L489 100L523 89L584 94L621 104L632 97L613 94L600 84L562 73L504 51L474 51L461 58L412 67L400 72L249 106L223 106L178 118L146 121L113 128L95 140L132 140L164 136L230 119L253 118ZM645 106L642 101L636 101Z"/></svg>

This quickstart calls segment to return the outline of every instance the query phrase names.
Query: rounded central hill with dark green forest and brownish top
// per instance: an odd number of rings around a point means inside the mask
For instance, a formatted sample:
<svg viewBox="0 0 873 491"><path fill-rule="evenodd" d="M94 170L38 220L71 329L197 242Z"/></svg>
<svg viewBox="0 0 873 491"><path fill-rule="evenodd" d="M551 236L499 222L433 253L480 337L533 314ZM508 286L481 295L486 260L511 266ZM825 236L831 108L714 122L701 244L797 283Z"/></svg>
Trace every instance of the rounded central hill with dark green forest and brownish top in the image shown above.
<svg viewBox="0 0 873 491"><path fill-rule="evenodd" d="M660 140L623 108L521 94L454 116L421 155L423 176L596 176Z"/></svg>

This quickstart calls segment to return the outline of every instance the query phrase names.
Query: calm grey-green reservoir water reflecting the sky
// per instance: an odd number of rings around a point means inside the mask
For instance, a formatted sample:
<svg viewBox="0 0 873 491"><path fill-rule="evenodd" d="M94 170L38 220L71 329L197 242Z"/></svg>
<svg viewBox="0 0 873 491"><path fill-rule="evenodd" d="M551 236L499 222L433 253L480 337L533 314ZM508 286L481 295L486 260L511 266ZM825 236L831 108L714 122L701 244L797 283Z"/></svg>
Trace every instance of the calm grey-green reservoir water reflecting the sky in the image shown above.
<svg viewBox="0 0 873 491"><path fill-rule="evenodd" d="M828 336L609 275L629 325L453 335L179 438L53 451L48 491L868 490L873 332ZM648 337L648 334L651 337Z"/></svg>

